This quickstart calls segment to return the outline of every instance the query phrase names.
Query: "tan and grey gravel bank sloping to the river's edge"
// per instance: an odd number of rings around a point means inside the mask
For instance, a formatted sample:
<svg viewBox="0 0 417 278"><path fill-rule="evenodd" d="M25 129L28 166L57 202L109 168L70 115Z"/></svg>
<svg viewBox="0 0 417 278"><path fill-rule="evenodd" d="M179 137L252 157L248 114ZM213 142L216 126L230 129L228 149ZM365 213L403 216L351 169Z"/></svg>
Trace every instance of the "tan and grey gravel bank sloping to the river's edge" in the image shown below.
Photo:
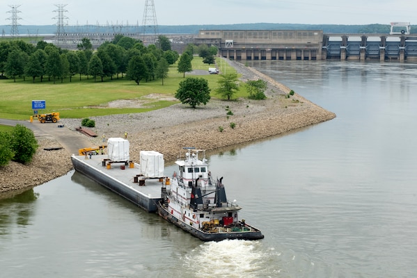
<svg viewBox="0 0 417 278"><path fill-rule="evenodd" d="M182 147L216 150L276 136L336 117L334 113L313 104L297 93L285 98L290 88L251 67L245 67L235 61L226 61L242 74L242 81L249 79L267 81L267 99L262 101L211 99L206 106L199 106L196 109L184 104L175 104L148 113L91 117L95 120L93 131L99 134L97 138L90 138L92 144L101 145L103 133L106 138L112 138L123 137L127 131L130 157L133 160L139 161L141 150L155 150L164 154L165 161L171 162L175 161ZM164 98L159 95L152 97ZM140 107L141 103L119 100L113 101L109 106ZM226 115L228 111L232 111L233 115ZM74 132L80 123L80 119L61 120L61 124ZM234 129L230 127L230 123L235 124ZM219 126L223 129L222 132L219 131ZM70 156L64 149L56 151L43 149L59 145L56 140L38 138L38 142L40 147L32 163L19 165L12 162L0 168L0 193L15 194L19 190L26 190L61 177L72 169ZM1 194L0 198L4 196Z"/></svg>

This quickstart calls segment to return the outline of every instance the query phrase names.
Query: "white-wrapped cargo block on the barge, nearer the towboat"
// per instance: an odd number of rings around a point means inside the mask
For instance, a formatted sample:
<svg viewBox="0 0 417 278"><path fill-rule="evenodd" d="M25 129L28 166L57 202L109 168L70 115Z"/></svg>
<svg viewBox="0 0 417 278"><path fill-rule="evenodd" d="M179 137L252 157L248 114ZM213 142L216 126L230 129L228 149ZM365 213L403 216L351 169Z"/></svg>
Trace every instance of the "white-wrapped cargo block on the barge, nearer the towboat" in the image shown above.
<svg viewBox="0 0 417 278"><path fill-rule="evenodd" d="M145 177L164 177L164 155L155 151L141 151L141 174Z"/></svg>

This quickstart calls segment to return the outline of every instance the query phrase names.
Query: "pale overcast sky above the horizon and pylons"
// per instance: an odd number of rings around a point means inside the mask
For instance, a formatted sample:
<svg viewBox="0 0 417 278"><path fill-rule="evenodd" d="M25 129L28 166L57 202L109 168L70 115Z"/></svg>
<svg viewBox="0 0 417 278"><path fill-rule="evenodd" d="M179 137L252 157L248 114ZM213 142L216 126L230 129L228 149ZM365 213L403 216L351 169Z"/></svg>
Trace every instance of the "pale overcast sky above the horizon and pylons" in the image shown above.
<svg viewBox="0 0 417 278"><path fill-rule="evenodd" d="M15 3L13 3L15 2ZM19 3L17 3L19 2ZM151 3L148 0L148 3ZM411 0L154 0L159 25L292 23L292 24L417 24L417 1ZM63 4L65 22L141 25L145 0L2 0L0 25L10 25L10 6L20 5L20 25L52 25L56 4ZM149 15L148 15L149 16Z"/></svg>

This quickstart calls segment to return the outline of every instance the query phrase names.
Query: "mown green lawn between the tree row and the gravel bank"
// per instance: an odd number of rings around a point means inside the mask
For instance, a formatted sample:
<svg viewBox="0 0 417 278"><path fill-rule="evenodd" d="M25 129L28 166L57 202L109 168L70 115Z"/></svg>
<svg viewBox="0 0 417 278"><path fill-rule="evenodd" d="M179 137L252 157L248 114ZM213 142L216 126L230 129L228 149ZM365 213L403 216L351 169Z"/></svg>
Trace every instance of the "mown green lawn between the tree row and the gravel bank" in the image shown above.
<svg viewBox="0 0 417 278"><path fill-rule="evenodd" d="M227 73L235 72L233 67L230 67L224 60L219 59L217 65L221 71ZM193 70L208 70L209 65L204 64L202 58L194 57L192 61ZM209 82L212 89L212 98L219 97L214 90L217 88L217 81L221 76L217 74L210 75L191 75L186 73L185 76L203 77ZM141 81L136 85L134 81L129 81L126 78L113 80L110 78L94 81L91 76L87 79L86 76L73 76L72 82L70 79L48 81L47 78L40 82L36 79L33 83L30 77L26 80L16 79L0 79L1 84L1 101L0 101L0 118L10 120L27 120L33 115L32 100L45 100L46 109L38 111L38 113L59 112L60 116L70 118L84 118L97 115L113 115L125 113L141 113L152 111L172 104L178 101L166 100L168 97L173 97L178 90L178 84L183 80L183 74L177 70L177 65L172 65L168 72L168 78L162 80L145 82ZM151 94L161 95L161 99L149 97ZM235 97L246 97L246 88L241 86L241 89ZM165 97L165 98L164 98ZM143 108L108 108L109 101L117 99L135 99L143 101Z"/></svg>

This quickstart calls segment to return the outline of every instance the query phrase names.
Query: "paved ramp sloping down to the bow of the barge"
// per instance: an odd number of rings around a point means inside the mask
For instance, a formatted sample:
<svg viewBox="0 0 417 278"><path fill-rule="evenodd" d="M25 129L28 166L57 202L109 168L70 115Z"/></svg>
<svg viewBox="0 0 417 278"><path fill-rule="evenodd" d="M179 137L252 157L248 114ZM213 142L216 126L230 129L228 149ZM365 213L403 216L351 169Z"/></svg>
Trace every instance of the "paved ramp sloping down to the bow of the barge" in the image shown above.
<svg viewBox="0 0 417 278"><path fill-rule="evenodd" d="M71 131L64 127L58 127L59 122L41 124L38 119L33 119L33 122L28 121L15 121L0 119L0 124L15 126L21 124L28 127L33 131L35 137L52 138L58 141L61 146L67 150L68 154L78 154L78 150L84 147L93 147L94 145L86 136L77 132ZM54 147L54 146L51 146Z"/></svg>

